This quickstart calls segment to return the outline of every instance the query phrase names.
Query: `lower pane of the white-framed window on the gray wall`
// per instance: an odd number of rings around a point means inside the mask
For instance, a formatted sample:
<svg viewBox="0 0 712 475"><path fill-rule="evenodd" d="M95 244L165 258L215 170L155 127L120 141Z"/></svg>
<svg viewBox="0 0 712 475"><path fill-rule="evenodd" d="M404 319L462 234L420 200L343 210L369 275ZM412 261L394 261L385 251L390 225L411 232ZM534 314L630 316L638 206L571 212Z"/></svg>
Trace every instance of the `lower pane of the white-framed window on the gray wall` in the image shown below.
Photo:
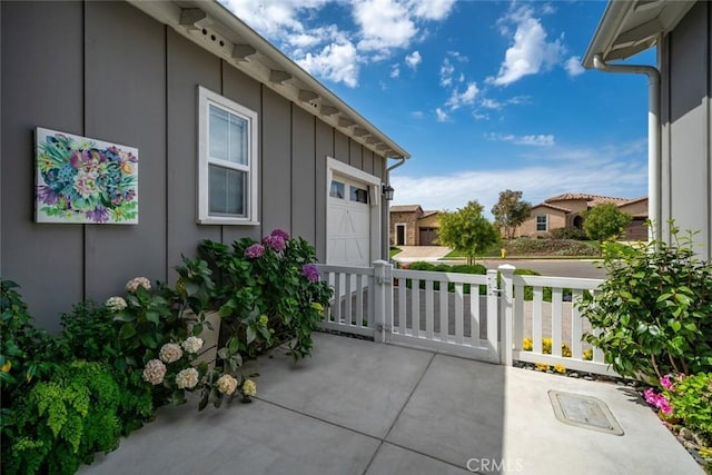
<svg viewBox="0 0 712 475"><path fill-rule="evenodd" d="M210 165L209 212L211 215L245 216L246 179L244 171Z"/></svg>

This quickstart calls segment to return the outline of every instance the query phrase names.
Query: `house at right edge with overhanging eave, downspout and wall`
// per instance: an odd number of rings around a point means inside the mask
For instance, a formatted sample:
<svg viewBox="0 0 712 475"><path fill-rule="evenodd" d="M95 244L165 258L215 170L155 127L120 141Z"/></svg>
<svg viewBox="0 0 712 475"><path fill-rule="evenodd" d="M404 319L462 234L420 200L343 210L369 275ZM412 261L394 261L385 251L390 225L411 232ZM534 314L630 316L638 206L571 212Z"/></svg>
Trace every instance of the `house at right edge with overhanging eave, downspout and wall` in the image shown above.
<svg viewBox="0 0 712 475"><path fill-rule="evenodd" d="M652 47L656 68L611 62ZM650 218L666 240L670 219L699 231L698 251L712 259L712 3L610 1L583 66L647 76Z"/></svg>

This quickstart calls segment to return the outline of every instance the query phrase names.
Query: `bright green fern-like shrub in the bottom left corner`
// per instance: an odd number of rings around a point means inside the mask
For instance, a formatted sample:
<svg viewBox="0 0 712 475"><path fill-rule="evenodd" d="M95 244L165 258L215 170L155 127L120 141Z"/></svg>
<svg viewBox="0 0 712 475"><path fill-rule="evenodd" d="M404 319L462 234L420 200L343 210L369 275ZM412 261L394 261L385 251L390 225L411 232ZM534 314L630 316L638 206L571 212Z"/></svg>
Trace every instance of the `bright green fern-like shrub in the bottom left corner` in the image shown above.
<svg viewBox="0 0 712 475"><path fill-rule="evenodd" d="M7 474L73 474L119 444L119 386L98 363L62 364L13 405L16 435L3 446Z"/></svg>

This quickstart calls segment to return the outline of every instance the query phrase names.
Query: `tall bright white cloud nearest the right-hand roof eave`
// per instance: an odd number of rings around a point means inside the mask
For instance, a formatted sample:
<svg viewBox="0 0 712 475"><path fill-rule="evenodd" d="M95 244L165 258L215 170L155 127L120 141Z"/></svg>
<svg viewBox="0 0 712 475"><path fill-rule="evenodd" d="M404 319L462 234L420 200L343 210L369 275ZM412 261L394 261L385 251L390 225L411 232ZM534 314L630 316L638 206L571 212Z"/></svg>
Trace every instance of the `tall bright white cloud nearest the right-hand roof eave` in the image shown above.
<svg viewBox="0 0 712 475"><path fill-rule="evenodd" d="M524 76L550 69L561 60L565 51L561 40L546 41L546 30L533 13L530 7L521 7L505 17L506 21L516 24L516 31L500 72L496 78L487 78L487 82L507 86Z"/></svg>

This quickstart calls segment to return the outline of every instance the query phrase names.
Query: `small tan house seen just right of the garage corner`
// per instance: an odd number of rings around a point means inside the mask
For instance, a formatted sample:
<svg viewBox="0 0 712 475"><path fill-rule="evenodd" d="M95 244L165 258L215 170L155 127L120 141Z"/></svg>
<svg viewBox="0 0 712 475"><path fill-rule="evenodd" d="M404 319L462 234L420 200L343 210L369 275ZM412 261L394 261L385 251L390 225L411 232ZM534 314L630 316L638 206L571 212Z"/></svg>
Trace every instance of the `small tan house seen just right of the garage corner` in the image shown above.
<svg viewBox="0 0 712 475"><path fill-rule="evenodd" d="M390 207L393 246L434 246L441 227L439 211L425 211L419 205Z"/></svg>

